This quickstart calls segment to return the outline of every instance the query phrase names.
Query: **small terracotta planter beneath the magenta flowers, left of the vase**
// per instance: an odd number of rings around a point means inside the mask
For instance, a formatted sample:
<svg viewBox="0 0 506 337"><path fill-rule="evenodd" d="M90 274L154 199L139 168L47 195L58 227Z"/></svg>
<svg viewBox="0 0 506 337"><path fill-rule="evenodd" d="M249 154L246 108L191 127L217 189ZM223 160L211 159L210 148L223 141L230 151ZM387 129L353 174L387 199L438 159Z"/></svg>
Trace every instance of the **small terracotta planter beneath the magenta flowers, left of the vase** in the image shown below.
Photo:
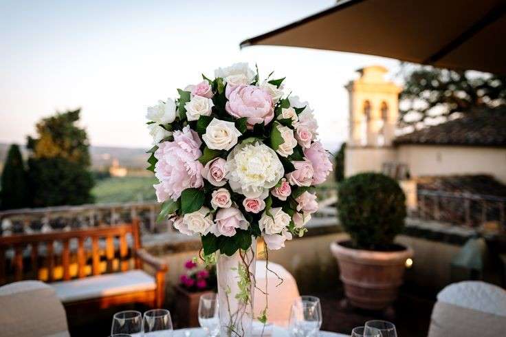
<svg viewBox="0 0 506 337"><path fill-rule="evenodd" d="M188 292L188 290L176 285L175 309L177 312L177 321L181 327L199 327L199 299L206 292Z"/></svg>

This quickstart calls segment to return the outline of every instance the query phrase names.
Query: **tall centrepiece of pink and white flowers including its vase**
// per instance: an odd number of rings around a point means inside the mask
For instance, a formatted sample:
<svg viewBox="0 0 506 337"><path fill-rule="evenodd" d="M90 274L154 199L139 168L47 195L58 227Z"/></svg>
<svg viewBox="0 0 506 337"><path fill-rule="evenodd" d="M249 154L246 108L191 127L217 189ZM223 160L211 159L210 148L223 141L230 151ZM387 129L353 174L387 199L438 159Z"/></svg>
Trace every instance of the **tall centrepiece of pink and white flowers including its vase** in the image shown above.
<svg viewBox="0 0 506 337"><path fill-rule="evenodd" d="M255 238L278 250L303 236L318 210L311 187L332 169L313 111L271 76L219 68L147 113L159 219L199 235L203 259L217 261L221 336L252 333Z"/></svg>

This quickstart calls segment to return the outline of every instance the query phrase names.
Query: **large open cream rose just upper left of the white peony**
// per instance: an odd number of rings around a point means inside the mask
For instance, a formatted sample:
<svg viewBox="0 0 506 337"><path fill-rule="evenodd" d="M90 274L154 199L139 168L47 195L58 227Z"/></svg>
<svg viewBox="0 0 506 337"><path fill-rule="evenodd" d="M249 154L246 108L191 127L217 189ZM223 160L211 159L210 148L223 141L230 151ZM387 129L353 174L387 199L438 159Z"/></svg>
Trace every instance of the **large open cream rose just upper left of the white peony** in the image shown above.
<svg viewBox="0 0 506 337"><path fill-rule="evenodd" d="M226 122L213 118L202 135L209 149L230 150L237 144L237 138L241 135L233 122Z"/></svg>

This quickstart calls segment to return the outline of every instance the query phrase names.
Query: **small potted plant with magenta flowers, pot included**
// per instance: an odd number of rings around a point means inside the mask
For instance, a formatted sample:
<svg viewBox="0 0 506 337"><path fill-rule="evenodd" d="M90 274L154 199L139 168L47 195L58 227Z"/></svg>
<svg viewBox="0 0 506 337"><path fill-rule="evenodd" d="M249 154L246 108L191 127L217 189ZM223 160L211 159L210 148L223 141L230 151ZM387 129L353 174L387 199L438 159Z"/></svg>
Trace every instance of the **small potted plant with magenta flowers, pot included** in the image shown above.
<svg viewBox="0 0 506 337"><path fill-rule="evenodd" d="M201 268L192 260L186 261L184 268L186 272L179 276L175 287L178 321L184 327L198 327L199 298L216 292L216 268Z"/></svg>

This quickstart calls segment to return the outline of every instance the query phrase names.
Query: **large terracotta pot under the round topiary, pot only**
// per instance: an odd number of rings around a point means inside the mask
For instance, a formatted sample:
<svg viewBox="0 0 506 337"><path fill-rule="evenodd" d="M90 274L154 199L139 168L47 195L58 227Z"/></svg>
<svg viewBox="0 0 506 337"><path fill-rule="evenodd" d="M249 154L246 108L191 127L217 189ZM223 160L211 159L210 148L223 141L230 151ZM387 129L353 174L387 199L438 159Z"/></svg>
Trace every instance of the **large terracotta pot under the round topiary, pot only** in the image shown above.
<svg viewBox="0 0 506 337"><path fill-rule="evenodd" d="M385 309L397 298L402 284L406 259L411 248L394 252L358 250L331 243L332 254L338 260L344 292L355 307Z"/></svg>

